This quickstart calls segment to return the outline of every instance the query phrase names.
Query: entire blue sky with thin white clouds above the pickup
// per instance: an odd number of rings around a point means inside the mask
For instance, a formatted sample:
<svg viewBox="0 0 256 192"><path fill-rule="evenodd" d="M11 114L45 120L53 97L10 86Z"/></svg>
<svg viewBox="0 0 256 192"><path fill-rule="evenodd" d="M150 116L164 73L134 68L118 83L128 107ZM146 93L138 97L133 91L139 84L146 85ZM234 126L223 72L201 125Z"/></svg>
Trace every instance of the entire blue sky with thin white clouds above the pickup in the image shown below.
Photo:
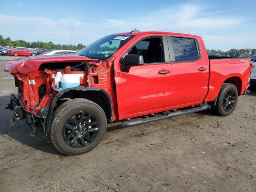
<svg viewBox="0 0 256 192"><path fill-rule="evenodd" d="M88 45L108 34L202 36L207 49L256 48L256 0L0 0L0 34L12 40Z"/></svg>

